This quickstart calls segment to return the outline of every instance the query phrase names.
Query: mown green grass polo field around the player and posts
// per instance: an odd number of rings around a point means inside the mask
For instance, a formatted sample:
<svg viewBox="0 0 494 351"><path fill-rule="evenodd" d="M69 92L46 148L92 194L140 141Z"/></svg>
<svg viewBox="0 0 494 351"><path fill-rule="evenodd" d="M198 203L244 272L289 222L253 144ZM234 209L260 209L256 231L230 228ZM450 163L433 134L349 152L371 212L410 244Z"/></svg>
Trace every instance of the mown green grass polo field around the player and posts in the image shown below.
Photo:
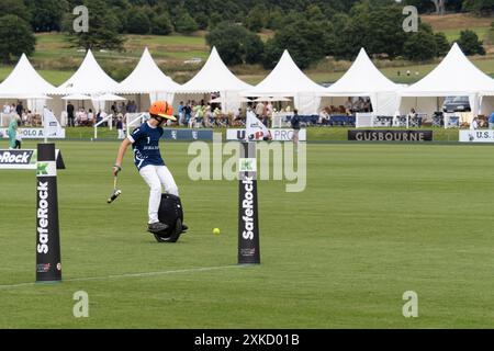
<svg viewBox="0 0 494 351"><path fill-rule="evenodd" d="M130 155L106 205L116 143L57 147L65 282L31 284L35 176L0 171L0 328L494 327L492 146L310 144L305 192L259 183L256 267L236 265L237 183L190 181L188 144L161 146L191 228L176 245L146 234ZM77 291L89 318L72 316Z"/></svg>

